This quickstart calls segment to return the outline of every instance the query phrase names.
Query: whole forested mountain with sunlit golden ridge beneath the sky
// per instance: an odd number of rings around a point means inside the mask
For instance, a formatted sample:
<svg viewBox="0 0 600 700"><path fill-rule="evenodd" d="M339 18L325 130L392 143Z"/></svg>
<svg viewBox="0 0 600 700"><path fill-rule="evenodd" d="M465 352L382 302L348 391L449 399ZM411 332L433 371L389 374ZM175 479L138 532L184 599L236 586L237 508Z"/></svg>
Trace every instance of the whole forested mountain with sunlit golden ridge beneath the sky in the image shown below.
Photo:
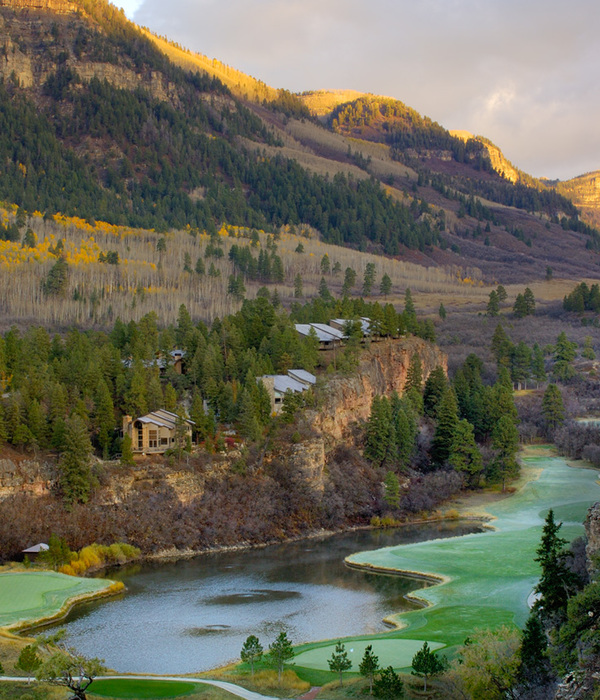
<svg viewBox="0 0 600 700"><path fill-rule="evenodd" d="M30 212L292 226L489 279L595 274L600 236L558 188L511 182L489 144L396 100L276 90L104 0L0 0L0 36L0 199Z"/></svg>

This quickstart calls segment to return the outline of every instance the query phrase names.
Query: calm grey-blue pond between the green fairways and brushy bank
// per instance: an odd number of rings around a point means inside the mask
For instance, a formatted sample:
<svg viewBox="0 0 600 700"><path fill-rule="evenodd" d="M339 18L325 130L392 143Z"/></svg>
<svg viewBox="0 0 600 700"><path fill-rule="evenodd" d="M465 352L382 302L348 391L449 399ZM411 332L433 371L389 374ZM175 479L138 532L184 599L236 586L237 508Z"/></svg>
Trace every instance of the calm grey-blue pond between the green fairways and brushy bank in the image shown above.
<svg viewBox="0 0 600 700"><path fill-rule="evenodd" d="M404 595L423 582L344 566L349 554L477 531L473 523L436 523L361 531L176 563L108 573L120 598L78 607L69 644L121 672L180 674L239 658L246 637L266 648L285 630L294 644L385 629L382 619L410 609Z"/></svg>

